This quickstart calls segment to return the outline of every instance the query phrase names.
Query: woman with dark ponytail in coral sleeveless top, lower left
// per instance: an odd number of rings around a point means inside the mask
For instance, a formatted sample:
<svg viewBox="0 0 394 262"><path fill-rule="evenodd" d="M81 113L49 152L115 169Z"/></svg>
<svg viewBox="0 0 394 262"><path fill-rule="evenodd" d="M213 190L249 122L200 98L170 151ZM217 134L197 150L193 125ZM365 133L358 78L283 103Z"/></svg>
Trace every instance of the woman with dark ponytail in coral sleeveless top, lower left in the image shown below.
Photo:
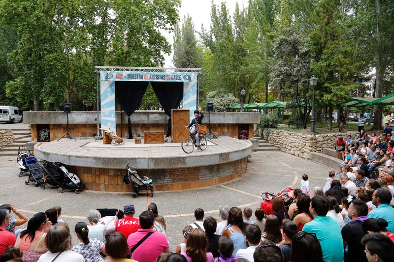
<svg viewBox="0 0 394 262"><path fill-rule="evenodd" d="M15 247L23 252L23 261L36 262L39 257L47 252L45 247L45 238L48 228L52 223L46 217L45 213L36 213L29 219L28 227L19 233Z"/></svg>

